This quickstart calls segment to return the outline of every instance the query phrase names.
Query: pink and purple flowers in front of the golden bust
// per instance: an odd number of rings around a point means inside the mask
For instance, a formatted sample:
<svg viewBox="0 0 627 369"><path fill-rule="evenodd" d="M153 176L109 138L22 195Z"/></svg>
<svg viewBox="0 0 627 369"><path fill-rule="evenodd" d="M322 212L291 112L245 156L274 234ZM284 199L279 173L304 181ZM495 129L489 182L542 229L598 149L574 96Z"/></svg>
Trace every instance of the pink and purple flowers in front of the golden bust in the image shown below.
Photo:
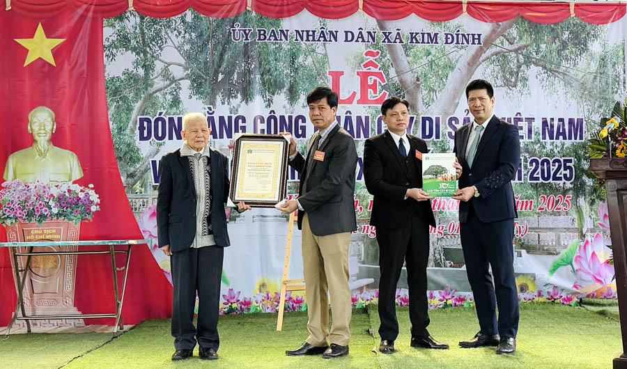
<svg viewBox="0 0 627 369"><path fill-rule="evenodd" d="M64 220L78 224L91 221L100 210L100 198L93 185L77 184L49 186L22 180L4 182L0 189L0 224L12 226L17 221L38 223Z"/></svg>

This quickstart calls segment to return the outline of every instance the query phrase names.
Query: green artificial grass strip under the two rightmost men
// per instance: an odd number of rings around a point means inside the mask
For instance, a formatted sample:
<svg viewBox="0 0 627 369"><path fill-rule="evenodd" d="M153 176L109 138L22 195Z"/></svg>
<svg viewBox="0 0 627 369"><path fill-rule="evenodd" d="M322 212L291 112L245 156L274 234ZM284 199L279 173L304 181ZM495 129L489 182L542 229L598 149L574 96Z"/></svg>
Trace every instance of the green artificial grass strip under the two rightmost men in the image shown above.
<svg viewBox="0 0 627 369"><path fill-rule="evenodd" d="M517 351L497 355L496 347L463 349L460 340L469 340L479 331L474 308L447 308L430 311L429 333L448 343L450 350L424 350L410 347L407 308L397 311L401 331L396 354L378 354L379 368L611 368L621 352L620 324L583 308L560 304L522 304ZM376 306L371 324L377 331L380 321ZM377 344L380 338L376 337Z"/></svg>

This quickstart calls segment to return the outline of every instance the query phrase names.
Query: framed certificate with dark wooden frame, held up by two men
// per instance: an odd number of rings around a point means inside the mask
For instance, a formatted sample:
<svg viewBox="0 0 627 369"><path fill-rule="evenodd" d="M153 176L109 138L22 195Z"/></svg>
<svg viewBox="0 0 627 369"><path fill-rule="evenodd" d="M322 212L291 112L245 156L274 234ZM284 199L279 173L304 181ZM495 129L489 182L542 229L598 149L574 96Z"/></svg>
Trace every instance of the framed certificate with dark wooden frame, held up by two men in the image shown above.
<svg viewBox="0 0 627 369"><path fill-rule="evenodd" d="M233 203L273 207L287 187L290 143L281 135L244 134L235 140L231 169Z"/></svg>

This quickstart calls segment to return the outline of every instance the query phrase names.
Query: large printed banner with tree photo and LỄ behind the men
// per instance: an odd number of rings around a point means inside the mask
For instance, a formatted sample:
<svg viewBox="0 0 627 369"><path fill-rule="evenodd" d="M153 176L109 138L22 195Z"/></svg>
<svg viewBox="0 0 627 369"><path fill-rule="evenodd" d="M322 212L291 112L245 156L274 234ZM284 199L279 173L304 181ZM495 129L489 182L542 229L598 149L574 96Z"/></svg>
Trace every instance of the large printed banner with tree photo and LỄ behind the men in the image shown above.
<svg viewBox="0 0 627 369"><path fill-rule="evenodd" d="M149 30L149 31L148 31ZM212 19L188 11L169 19L125 14L104 30L109 118L123 182L146 237L155 240L158 162L176 150L182 116L200 111L211 145L231 156L239 134L290 132L304 153L314 126L305 97L316 86L339 93L337 121L357 144L358 229L350 247L355 304L376 301L378 245L369 225L364 140L385 131L380 104L411 104L408 132L431 152L453 148L472 122L464 88L495 86L495 114L516 125L522 158L515 179L515 270L520 299L576 304L616 295L607 210L585 175L585 140L625 91L625 22L598 26L570 18L536 24L487 23L466 15L428 22L364 14L321 19L307 12L272 19L251 12ZM289 173L291 196L298 173ZM435 198L428 268L432 307L472 304L460 249L458 201ZM288 217L278 210L231 212L224 260L225 313L273 311L283 270ZM156 244L154 242L153 244ZM295 232L291 278L302 276ZM169 263L153 246L167 273ZM406 304L405 275L398 304ZM288 308L302 307L292 297Z"/></svg>

